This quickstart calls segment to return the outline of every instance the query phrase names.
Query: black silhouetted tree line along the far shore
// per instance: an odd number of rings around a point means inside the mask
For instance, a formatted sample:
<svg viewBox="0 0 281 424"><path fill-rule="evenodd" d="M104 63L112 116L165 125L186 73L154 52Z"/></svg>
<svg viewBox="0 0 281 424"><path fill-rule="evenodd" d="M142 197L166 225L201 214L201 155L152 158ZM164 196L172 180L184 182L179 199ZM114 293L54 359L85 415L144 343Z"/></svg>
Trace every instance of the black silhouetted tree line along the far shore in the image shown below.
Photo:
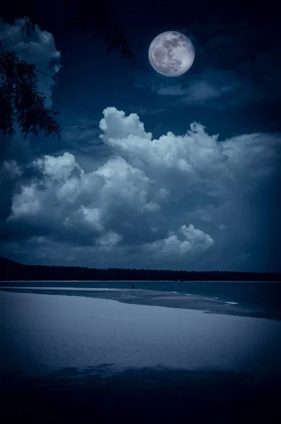
<svg viewBox="0 0 281 424"><path fill-rule="evenodd" d="M82 266L23 265L0 258L0 281L144 280L144 281L281 281L280 273L173 271L171 269L97 269Z"/></svg>

